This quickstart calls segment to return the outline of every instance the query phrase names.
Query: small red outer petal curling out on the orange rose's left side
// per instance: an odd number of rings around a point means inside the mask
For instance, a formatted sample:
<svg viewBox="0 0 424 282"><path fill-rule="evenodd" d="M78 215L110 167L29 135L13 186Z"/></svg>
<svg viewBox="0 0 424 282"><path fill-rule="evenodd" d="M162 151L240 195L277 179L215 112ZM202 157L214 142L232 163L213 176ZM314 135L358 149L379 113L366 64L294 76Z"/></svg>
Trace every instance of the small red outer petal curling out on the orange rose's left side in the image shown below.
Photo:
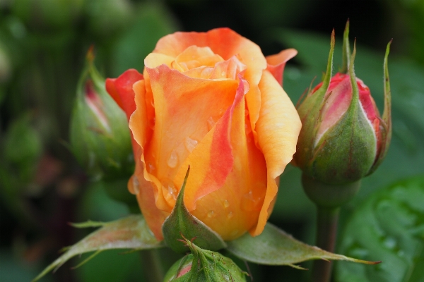
<svg viewBox="0 0 424 282"><path fill-rule="evenodd" d="M129 117L136 109L134 102L134 91L132 85L134 82L143 80L143 75L134 69L129 69L119 75L119 78L107 78L106 90L117 104L125 111L126 117Z"/></svg>

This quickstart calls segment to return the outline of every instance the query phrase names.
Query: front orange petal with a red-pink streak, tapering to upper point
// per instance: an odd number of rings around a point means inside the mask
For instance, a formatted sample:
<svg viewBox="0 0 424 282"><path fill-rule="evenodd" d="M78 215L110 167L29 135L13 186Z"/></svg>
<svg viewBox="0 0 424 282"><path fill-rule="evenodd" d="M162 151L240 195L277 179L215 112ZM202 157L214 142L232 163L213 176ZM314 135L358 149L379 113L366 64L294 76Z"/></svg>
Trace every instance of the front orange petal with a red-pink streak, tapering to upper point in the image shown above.
<svg viewBox="0 0 424 282"><path fill-rule="evenodd" d="M245 120L244 86L240 83L232 107L213 134L182 165L190 165L191 172L202 168L187 180L187 185L192 185L184 195L187 208L224 240L238 238L256 225L266 192L264 155L245 126L249 121Z"/></svg>

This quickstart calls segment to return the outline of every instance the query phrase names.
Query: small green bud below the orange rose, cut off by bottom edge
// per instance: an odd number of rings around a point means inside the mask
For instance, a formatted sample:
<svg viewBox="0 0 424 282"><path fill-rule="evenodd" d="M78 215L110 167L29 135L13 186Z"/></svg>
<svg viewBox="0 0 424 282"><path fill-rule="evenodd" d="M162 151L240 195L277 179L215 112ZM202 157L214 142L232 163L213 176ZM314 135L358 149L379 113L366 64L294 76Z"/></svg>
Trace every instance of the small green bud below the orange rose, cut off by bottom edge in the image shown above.
<svg viewBox="0 0 424 282"><path fill-rule="evenodd" d="M179 259L167 271L163 281L246 281L247 273L242 271L232 259L219 252L201 249L184 238L184 243L192 252Z"/></svg>

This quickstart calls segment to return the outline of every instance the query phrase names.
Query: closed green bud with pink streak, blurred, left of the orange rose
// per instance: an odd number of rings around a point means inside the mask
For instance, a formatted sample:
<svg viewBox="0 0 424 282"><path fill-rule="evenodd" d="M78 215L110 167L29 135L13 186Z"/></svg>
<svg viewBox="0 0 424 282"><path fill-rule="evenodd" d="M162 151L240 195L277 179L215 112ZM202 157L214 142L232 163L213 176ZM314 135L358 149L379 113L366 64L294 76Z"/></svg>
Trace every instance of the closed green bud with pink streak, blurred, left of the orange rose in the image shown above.
<svg viewBox="0 0 424 282"><path fill-rule="evenodd" d="M110 180L131 176L134 161L127 124L124 111L107 94L89 51L70 129L71 150L88 175Z"/></svg>

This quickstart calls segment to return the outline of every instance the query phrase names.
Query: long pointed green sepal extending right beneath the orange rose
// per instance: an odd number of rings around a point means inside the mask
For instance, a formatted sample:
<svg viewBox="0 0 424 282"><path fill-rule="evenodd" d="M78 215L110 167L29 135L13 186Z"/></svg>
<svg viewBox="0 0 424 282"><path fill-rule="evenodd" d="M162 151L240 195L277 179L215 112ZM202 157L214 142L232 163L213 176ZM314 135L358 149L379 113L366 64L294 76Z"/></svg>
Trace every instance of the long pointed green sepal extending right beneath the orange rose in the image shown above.
<svg viewBox="0 0 424 282"><path fill-rule="evenodd" d="M252 237L246 233L242 237L227 243L227 250L233 255L257 264L288 265L302 269L295 264L310 259L337 259L363 264L378 263L336 255L321 250L319 247L306 245L271 223L266 223L264 232L257 237Z"/></svg>

